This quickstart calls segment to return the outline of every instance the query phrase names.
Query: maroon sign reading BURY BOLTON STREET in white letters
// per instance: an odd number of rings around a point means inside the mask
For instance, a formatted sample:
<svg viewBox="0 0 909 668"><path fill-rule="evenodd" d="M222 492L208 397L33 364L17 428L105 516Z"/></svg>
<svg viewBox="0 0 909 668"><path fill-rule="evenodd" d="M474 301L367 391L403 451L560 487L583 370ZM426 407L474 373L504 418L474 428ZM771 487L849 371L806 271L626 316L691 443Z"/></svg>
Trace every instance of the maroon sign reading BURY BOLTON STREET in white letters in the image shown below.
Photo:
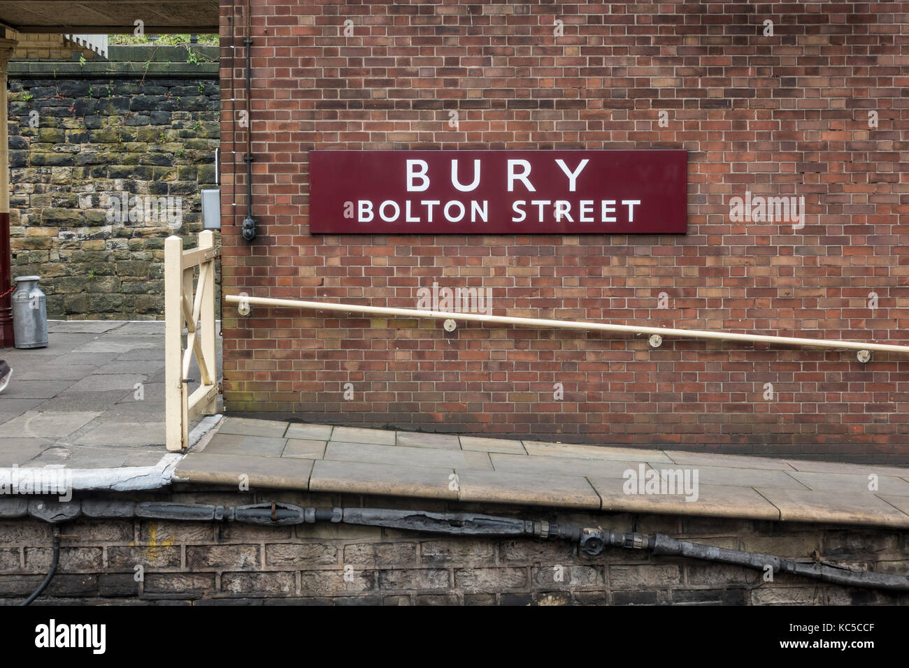
<svg viewBox="0 0 909 668"><path fill-rule="evenodd" d="M685 234L684 150L311 151L311 234Z"/></svg>

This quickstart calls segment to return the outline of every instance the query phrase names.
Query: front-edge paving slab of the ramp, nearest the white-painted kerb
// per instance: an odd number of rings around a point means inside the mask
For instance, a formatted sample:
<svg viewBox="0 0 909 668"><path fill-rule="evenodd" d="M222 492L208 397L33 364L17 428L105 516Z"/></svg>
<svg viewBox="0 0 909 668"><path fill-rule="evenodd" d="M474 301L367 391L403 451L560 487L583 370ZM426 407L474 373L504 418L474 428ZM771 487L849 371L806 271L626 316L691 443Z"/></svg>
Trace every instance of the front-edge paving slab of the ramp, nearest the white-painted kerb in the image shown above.
<svg viewBox="0 0 909 668"><path fill-rule="evenodd" d="M313 462L308 459L259 457L251 454L187 454L175 476L198 484L238 485L252 488L306 490Z"/></svg>

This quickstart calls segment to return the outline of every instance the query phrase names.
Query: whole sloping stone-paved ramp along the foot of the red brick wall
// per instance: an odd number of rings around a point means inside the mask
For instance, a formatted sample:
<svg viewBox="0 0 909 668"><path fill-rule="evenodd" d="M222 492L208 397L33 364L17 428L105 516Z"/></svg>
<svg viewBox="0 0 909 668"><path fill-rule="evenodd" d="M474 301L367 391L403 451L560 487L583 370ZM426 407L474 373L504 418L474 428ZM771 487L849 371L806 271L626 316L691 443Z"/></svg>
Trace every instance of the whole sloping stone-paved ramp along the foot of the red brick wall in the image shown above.
<svg viewBox="0 0 909 668"><path fill-rule="evenodd" d="M639 481L634 487L629 472ZM909 467L241 417L225 418L211 438L177 465L173 479L604 512L909 528Z"/></svg>

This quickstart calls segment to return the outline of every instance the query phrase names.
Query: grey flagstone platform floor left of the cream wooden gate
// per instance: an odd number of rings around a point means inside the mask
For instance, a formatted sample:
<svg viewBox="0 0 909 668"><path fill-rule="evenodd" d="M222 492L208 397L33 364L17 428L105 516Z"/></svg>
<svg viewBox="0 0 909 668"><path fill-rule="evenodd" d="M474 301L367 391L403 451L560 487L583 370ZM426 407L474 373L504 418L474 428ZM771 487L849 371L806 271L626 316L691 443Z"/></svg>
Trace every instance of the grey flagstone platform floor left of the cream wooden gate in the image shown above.
<svg viewBox="0 0 909 668"><path fill-rule="evenodd" d="M13 368L0 394L0 468L161 462L164 323L51 321L48 332L45 348L0 350Z"/></svg>

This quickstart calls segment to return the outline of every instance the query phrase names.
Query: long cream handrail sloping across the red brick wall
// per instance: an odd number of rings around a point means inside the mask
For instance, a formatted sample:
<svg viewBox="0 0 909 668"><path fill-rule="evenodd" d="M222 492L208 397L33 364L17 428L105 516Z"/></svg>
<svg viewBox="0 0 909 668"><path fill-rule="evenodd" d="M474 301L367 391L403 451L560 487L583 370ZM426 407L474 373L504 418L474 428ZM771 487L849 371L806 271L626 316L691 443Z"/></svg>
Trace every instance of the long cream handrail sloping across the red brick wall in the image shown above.
<svg viewBox="0 0 909 668"><path fill-rule="evenodd" d="M909 353L909 345L866 344L860 341L828 341L826 339L803 339L792 336L770 336L766 334L737 334L735 332L711 332L697 329L671 329L664 327L644 327L634 324L585 323L572 320L541 320L538 318L514 318L506 315L484 315L469 313L446 313L444 311L419 311L409 308L386 308L385 306L361 306L359 304L329 304L325 302L305 302L296 299L274 299L272 297L252 297L237 294L225 294L225 302L244 306L278 306L281 308L305 308L314 311L340 311L343 313L397 315L405 318L435 318L436 320L467 320L478 323L515 324L526 327L544 327L553 329L576 329L586 332L622 332L624 334L649 334L650 344L657 348L663 343L664 336L677 336L687 339L714 339L720 341L743 341L756 344L796 345L814 348L845 348L857 350L860 362L871 359L871 352Z"/></svg>

